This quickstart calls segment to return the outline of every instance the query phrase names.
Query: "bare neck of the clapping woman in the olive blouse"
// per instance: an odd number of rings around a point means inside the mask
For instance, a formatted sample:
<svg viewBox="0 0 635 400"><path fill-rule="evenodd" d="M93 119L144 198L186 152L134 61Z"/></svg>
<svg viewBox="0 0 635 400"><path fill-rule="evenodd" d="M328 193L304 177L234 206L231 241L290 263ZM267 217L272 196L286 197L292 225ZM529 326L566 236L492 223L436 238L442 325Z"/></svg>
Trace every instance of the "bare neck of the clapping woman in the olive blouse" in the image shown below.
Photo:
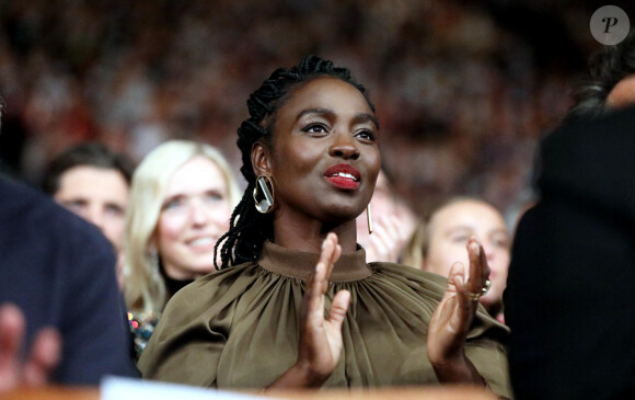
<svg viewBox="0 0 635 400"><path fill-rule="evenodd" d="M291 250L319 253L322 242L328 232L337 235L342 253L357 250L357 227L355 219L343 224L325 224L312 218L299 218L279 213L274 219L274 239L276 244Z"/></svg>

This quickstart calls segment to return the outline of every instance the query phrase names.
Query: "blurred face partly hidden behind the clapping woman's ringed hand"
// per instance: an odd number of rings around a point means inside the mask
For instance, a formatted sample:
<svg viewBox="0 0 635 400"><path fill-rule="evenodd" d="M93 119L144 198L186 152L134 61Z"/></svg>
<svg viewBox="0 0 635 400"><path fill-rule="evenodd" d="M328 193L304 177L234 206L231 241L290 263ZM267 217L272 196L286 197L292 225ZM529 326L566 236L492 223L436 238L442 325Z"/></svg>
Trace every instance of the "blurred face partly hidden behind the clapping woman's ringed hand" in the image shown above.
<svg viewBox="0 0 635 400"><path fill-rule="evenodd" d="M459 201L437 210L429 225L429 247L424 270L448 276L455 262L469 268L465 243L476 236L489 264L489 292L481 297L484 306L500 301L509 266L509 233L494 207L477 201Z"/></svg>

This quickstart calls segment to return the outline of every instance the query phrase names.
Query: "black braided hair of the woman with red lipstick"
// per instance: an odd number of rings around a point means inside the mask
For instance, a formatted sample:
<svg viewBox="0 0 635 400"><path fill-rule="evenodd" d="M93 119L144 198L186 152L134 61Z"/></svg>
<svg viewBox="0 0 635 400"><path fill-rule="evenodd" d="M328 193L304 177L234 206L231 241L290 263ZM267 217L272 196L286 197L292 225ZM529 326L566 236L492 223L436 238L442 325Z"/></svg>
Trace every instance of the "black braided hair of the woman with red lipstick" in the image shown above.
<svg viewBox="0 0 635 400"><path fill-rule="evenodd" d="M215 263L216 254L221 247L220 268L256 261L265 240L274 240L274 215L258 213L252 196L256 184L256 175L252 165L252 146L256 141L272 146L276 112L289 99L293 89L320 77L333 77L350 83L359 90L374 112L374 106L368 100L366 89L351 78L348 69L335 67L332 61L316 56L308 56L292 68L276 69L250 95L247 100L250 117L243 121L238 129L236 142L242 153L241 172L247 181L247 187L231 215L229 231L220 237L216 243ZM217 268L219 268L218 265Z"/></svg>

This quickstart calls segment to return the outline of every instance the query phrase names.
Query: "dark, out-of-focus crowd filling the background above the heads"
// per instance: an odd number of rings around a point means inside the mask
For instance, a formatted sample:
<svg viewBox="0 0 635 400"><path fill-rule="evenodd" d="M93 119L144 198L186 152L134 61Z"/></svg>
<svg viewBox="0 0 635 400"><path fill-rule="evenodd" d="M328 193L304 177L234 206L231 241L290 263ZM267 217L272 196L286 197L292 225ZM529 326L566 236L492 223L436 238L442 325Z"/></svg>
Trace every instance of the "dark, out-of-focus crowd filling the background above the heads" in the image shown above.
<svg viewBox="0 0 635 400"><path fill-rule="evenodd" d="M632 5L612 4L635 23ZM589 31L601 5L2 0L2 170L38 184L48 160L81 140L138 161L183 138L218 147L239 175L235 132L251 89L316 54L369 88L384 169L416 213L470 194L512 224L531 201L538 139L601 48Z"/></svg>

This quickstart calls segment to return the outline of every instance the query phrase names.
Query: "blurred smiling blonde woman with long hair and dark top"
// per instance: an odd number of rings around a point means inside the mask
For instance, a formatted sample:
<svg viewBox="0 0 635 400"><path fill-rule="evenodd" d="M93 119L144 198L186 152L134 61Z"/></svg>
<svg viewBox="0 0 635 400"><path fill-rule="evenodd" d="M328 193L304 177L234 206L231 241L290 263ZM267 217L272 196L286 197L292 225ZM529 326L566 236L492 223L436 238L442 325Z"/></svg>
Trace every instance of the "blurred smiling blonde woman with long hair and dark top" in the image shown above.
<svg viewBox="0 0 635 400"><path fill-rule="evenodd" d="M126 215L124 293L138 355L168 300L215 271L213 248L239 199L227 161L208 145L164 142L135 171Z"/></svg>

